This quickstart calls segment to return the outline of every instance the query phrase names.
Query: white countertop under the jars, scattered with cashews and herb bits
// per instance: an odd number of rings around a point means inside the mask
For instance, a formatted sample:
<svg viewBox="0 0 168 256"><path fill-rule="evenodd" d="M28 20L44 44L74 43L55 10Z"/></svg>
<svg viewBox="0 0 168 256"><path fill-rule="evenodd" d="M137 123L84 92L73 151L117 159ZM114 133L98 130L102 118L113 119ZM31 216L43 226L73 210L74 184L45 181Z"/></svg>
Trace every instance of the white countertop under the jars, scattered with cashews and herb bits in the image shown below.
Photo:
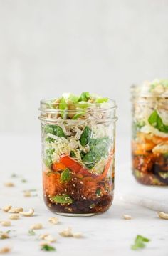
<svg viewBox="0 0 168 256"><path fill-rule="evenodd" d="M147 187L137 184L130 170L129 139L117 140L115 200L110 210L93 217L58 216L60 224L51 225L48 218L55 216L46 209L41 194L40 138L1 135L1 181L0 207L14 205L28 210L35 209L33 217L11 220L11 227L0 230L10 232L11 239L0 240L0 248L9 245L9 255L168 255L168 221L157 217L156 210L167 210L168 187ZM11 178L16 173L27 179ZM4 182L14 182L15 187L4 187ZM24 189L37 189L38 196L23 197ZM34 192L36 194L36 192ZM143 207L145 205L146 207ZM152 208L153 210L149 209ZM132 215L132 220L123 220L122 215ZM9 213L0 211L0 219L7 220ZM41 222L43 230L36 230L36 236L28 236L28 229ZM58 232L72 227L82 232L83 238L61 237ZM58 241L53 244L56 252L41 252L38 235L51 233ZM140 252L130 250L136 235L151 239Z"/></svg>

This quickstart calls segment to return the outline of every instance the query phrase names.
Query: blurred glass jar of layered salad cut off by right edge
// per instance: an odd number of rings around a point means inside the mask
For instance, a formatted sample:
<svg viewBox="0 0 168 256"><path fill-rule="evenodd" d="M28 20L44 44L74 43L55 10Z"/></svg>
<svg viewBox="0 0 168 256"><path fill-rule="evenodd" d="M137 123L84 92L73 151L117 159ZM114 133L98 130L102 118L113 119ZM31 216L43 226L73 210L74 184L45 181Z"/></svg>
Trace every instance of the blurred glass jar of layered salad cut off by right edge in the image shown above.
<svg viewBox="0 0 168 256"><path fill-rule="evenodd" d="M132 87L132 172L138 182L168 185L168 81Z"/></svg>

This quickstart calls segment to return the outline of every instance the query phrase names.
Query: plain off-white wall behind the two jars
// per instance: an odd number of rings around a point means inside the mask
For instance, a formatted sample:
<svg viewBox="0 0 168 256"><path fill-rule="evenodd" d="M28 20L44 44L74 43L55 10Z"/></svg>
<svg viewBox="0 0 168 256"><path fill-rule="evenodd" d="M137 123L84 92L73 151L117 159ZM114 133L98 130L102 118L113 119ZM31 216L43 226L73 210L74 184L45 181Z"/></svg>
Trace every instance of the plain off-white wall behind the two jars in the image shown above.
<svg viewBox="0 0 168 256"><path fill-rule="evenodd" d="M0 0L0 132L37 134L41 98L116 99L130 134L129 87L168 77L167 0Z"/></svg>

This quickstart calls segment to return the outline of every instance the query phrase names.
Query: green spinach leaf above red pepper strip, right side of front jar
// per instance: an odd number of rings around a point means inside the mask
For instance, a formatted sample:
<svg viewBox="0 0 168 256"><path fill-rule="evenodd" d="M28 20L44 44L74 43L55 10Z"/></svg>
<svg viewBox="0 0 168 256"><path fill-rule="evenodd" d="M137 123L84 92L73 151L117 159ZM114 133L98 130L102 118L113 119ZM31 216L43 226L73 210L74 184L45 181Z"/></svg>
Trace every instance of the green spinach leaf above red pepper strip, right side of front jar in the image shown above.
<svg viewBox="0 0 168 256"><path fill-rule="evenodd" d="M93 168L96 162L100 161L101 157L107 156L109 142L108 137L90 139L90 151L83 157L86 167L89 169Z"/></svg>

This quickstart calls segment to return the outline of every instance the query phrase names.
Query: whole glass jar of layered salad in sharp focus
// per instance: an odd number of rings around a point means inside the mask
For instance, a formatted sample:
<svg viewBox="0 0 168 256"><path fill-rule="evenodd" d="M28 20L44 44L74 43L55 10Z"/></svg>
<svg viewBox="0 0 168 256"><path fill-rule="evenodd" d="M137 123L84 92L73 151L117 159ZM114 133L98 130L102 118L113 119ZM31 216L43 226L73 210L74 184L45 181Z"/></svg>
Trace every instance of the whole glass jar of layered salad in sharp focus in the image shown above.
<svg viewBox="0 0 168 256"><path fill-rule="evenodd" d="M51 102L41 100L39 117L46 206L70 216L105 212L113 200L116 104L90 103L83 114L69 106L63 117Z"/></svg>

